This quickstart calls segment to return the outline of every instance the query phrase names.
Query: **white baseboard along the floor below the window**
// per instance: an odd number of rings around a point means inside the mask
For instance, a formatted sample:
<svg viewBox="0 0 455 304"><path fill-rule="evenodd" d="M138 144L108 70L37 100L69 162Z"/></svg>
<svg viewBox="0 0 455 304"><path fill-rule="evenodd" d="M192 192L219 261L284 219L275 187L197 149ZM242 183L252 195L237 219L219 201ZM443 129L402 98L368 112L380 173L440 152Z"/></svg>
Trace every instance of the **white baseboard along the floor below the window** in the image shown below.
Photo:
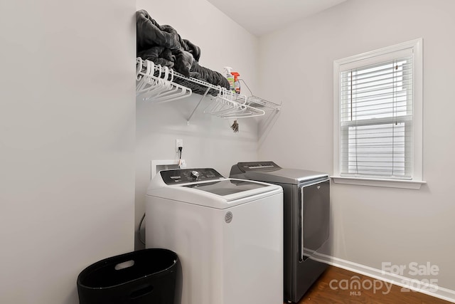
<svg viewBox="0 0 455 304"><path fill-rule="evenodd" d="M370 278L375 278L387 283L401 286L403 290L414 290L419 293L424 293L435 298L440 298L442 300L455 303L455 290L442 288L437 285L430 285L428 283L418 282L414 278L406 278L405 276L399 276L394 273L387 273L380 269L353 263L333 256L326 256L321 253L316 253L314 255L314 260L328 263L331 266L343 268L348 271L353 271L354 273L359 273L363 276L369 276Z"/></svg>

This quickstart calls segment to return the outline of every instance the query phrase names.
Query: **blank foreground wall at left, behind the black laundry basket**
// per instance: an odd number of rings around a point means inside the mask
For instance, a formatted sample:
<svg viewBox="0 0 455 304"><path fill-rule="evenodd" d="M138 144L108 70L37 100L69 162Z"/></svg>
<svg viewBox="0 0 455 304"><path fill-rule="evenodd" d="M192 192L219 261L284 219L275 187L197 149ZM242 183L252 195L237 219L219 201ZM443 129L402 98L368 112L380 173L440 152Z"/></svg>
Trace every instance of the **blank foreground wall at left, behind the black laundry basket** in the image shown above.
<svg viewBox="0 0 455 304"><path fill-rule="evenodd" d="M134 249L134 3L0 3L0 303Z"/></svg>

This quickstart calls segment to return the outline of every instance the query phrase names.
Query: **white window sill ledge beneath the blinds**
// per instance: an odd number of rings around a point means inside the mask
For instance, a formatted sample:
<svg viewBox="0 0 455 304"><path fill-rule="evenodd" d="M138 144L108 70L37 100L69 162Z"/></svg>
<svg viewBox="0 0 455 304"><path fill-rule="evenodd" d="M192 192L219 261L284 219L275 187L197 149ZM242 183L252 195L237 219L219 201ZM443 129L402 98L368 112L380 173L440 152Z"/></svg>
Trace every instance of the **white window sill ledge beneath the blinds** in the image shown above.
<svg viewBox="0 0 455 304"><path fill-rule="evenodd" d="M403 179L369 179L365 177L331 177L335 184L356 184L361 186L420 189L424 181L411 181Z"/></svg>

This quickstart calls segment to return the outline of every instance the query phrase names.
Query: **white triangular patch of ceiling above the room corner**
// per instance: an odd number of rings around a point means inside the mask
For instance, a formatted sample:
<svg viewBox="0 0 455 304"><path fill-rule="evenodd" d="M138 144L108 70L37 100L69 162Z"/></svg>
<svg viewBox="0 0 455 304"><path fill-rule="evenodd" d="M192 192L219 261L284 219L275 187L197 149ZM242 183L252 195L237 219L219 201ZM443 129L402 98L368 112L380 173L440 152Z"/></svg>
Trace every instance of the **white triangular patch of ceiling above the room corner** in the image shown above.
<svg viewBox="0 0 455 304"><path fill-rule="evenodd" d="M250 33L262 36L346 0L208 0Z"/></svg>

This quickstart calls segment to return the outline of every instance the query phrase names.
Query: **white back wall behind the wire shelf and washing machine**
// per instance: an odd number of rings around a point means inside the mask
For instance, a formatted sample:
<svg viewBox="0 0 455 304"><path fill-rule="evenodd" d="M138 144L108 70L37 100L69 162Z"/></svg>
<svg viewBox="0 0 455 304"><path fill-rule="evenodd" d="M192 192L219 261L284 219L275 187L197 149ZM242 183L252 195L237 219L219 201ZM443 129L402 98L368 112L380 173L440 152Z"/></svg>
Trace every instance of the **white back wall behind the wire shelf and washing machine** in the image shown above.
<svg viewBox="0 0 455 304"><path fill-rule="evenodd" d="M169 7L176 9L169 10ZM257 88L257 38L205 0L137 0L159 24L168 24L182 38L201 48L200 65L223 73L231 66L255 93ZM248 95L242 87L242 93ZM257 159L257 125L253 119L239 120L240 131L232 132L233 120L204 114L210 101L187 118L200 95L153 105L137 101L136 224L144 214L146 188L150 182L152 159L177 159L176 139L183 139L183 159L188 167L213 167L229 176L232 164ZM136 241L136 248L141 248Z"/></svg>

